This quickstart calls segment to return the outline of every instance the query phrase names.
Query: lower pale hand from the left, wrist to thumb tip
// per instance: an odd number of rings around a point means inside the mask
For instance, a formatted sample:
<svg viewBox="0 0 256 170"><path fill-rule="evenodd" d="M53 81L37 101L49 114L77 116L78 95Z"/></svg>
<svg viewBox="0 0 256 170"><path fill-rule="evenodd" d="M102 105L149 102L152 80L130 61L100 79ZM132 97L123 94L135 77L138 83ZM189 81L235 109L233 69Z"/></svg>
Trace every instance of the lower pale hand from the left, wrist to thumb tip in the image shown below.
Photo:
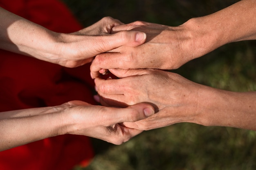
<svg viewBox="0 0 256 170"><path fill-rule="evenodd" d="M146 103L127 108L90 105L82 101L71 101L64 105L69 105L65 111L72 114L75 123L73 130L68 133L91 136L114 144L124 143L142 132L119 123L138 121L154 114L154 108Z"/></svg>

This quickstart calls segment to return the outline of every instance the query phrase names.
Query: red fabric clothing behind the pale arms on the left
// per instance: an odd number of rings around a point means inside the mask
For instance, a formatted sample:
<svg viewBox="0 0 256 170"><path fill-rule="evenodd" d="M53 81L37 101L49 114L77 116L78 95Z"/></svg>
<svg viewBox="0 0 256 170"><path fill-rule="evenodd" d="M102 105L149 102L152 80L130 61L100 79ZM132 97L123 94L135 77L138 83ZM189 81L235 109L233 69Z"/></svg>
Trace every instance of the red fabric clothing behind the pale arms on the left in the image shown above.
<svg viewBox="0 0 256 170"><path fill-rule="evenodd" d="M57 0L0 0L0 6L53 31L81 29ZM89 69L68 69L0 50L0 112L71 100L95 104ZM0 152L0 170L69 170L78 163L88 165L92 157L88 137L61 135Z"/></svg>

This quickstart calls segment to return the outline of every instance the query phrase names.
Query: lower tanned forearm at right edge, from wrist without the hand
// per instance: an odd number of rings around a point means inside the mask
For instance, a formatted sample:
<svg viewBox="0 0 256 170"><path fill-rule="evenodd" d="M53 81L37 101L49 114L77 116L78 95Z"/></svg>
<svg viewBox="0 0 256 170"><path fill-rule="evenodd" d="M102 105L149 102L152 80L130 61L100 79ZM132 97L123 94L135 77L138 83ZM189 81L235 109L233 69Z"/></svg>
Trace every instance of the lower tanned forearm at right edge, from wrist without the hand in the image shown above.
<svg viewBox="0 0 256 170"><path fill-rule="evenodd" d="M195 123L256 130L256 92L229 92L206 87L199 94L197 103Z"/></svg>

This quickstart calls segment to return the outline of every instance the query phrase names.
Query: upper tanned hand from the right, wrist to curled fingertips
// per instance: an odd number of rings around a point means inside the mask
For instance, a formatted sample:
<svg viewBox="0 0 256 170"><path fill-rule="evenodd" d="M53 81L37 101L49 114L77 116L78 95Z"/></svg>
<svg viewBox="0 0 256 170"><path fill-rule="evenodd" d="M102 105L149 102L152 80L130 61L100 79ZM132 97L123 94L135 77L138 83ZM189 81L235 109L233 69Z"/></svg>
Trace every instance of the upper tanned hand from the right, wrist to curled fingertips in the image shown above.
<svg viewBox="0 0 256 170"><path fill-rule="evenodd" d="M107 69L177 69L192 59L195 53L188 44L188 28L181 25L169 27L148 22L132 22L112 28L112 33L121 30L133 30L146 33L146 42L137 47L121 46L108 53L99 54L94 59L92 78ZM100 72L99 72L100 71Z"/></svg>

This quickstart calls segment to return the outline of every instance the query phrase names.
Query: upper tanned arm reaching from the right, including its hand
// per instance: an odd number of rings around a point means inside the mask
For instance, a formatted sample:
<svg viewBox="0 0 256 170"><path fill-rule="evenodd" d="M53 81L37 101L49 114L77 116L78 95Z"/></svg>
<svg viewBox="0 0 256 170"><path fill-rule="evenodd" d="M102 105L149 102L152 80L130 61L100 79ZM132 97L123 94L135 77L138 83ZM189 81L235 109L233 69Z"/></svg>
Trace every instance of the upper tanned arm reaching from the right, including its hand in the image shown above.
<svg viewBox="0 0 256 170"><path fill-rule="evenodd" d="M241 0L216 13L192 18L178 27L133 22L112 28L143 31L146 43L138 47L119 47L96 56L92 78L107 69L177 69L184 63L230 42L256 39L256 1Z"/></svg>

